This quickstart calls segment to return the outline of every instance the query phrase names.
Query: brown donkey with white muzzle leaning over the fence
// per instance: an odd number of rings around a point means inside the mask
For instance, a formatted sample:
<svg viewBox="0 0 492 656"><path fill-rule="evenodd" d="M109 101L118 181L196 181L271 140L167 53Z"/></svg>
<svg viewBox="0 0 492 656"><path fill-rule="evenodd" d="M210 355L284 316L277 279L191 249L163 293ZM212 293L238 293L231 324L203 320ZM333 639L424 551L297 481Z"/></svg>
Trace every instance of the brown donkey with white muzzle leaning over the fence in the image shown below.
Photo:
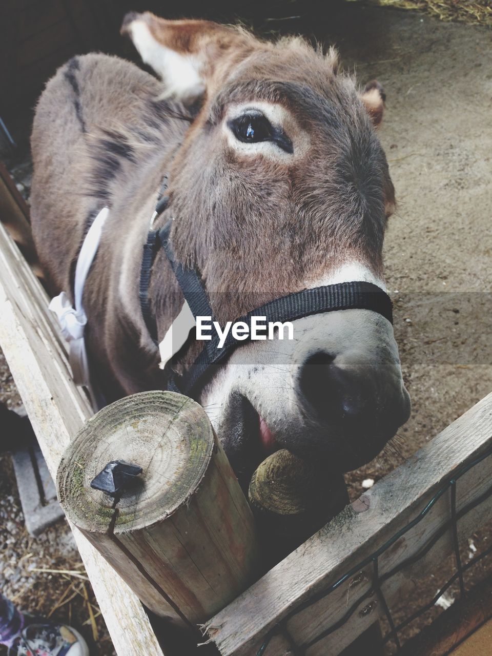
<svg viewBox="0 0 492 656"><path fill-rule="evenodd" d="M156 79L103 54L62 66L33 124L32 228L54 294L73 293L77 256L109 208L85 283L92 376L107 401L167 388L203 344L191 335L163 371L142 317L142 248L167 178L176 259L201 274L220 322L282 295L345 281L384 289L394 188L377 137L384 94L363 92L300 38L131 13L129 35ZM157 253L148 298L162 340L180 287ZM238 475L286 447L345 472L409 417L390 321L367 309L305 316L293 340L244 342L203 381Z"/></svg>

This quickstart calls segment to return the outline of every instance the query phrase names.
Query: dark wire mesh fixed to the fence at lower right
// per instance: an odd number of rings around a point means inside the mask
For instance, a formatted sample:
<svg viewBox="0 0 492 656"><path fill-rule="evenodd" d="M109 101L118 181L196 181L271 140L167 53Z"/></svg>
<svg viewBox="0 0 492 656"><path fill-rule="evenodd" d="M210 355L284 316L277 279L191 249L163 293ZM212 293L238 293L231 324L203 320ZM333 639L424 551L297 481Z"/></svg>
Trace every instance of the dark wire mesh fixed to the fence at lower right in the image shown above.
<svg viewBox="0 0 492 656"><path fill-rule="evenodd" d="M492 485L487 488L482 495L474 499L473 501L468 502L461 510L457 510L456 507L456 483L457 481L464 475L466 472L468 472L470 469L472 469L474 466L485 460L487 457L492 455L492 447L489 447L487 451L485 451L481 456L477 457L474 459L474 461L469 462L466 466L462 467L461 470L453 476L453 478L450 478L444 485L438 490L438 492L432 497L432 499L428 502L428 504L425 506L423 510L420 511L420 513L415 517L411 522L409 522L405 527L400 529L397 533L395 533L386 543L384 543L379 549L377 549L373 554L370 556L367 556L363 561L361 561L356 567L352 567L350 571L348 571L346 574L344 574L338 581L333 583L327 590L323 590L321 592L318 592L318 594L313 595L309 600L306 602L303 602L302 604L299 604L295 609L293 609L290 613L288 613L279 623L277 623L270 631L266 634L264 641L262 643L262 646L258 651L256 652L256 656L263 656L264 653L266 652L266 648L268 647L268 644L270 644L270 641L272 638L281 632L285 632L287 621L294 617L295 615L298 615L301 611L304 609L312 606L313 604L316 604L319 600L325 598L331 592L336 590L344 581L347 579L350 579L354 574L356 574L358 571L363 569L364 567L367 567L367 565L371 564L373 565L373 589L372 590L367 590L363 595L361 595L358 600L350 606L348 611L341 617L335 624L329 626L326 630L321 632L316 638L311 640L310 642L301 645L301 646L296 646L295 649L296 651L294 653L304 653L308 647L311 647L312 645L316 644L320 640L323 640L323 638L326 638L329 636L331 633L335 632L340 626L343 626L346 621L353 615L354 611L359 607L361 602L370 596L373 596L373 594L376 592L377 596L382 604L382 607L384 609L384 613L386 615L386 619L388 619L388 624L390 625L390 631L382 638L382 643L385 644L389 640L394 640L397 650L400 651L401 645L400 645L400 638L398 636L398 633L405 628L405 626L409 625L411 622L413 622L417 617L420 617L420 615L423 615L426 613L436 602L438 599L444 594L444 592L451 586L455 581L459 581L460 585L460 593L461 596L464 596L466 594L465 588L464 588L464 572L468 571L470 567L473 567L477 562L485 558L485 556L488 556L489 554L492 553L492 546L484 550L481 554L478 556L475 556L471 560L468 561L466 564L462 564L461 562L461 556L459 552L459 539L458 539L458 525L457 522L458 520L466 515L470 510L473 510L473 508L476 508L476 506L480 505L483 501L488 499L492 495ZM379 556L383 554L392 544L396 543L397 540L400 539L402 535L405 535L408 531L413 529L414 526L416 526L419 522L421 522L424 517L430 512L431 508L436 504L436 502L447 492L448 489L451 489L451 517L447 522L443 523L441 527L434 532L434 535L432 535L432 538L426 546L424 546L417 554L414 556L410 556L406 560L401 561L398 565L396 565L391 571L387 572L384 575L379 575ZM418 562L421 558L423 558L429 551L430 549L438 542L438 540L444 535L444 533L451 528L452 532L452 537L453 537L453 550L454 550L454 555L455 555L455 560L456 560L456 569L457 571L453 576L442 586L442 588L439 590L438 594L432 598L428 604L423 605L422 607L419 608L415 613L407 617L405 620L403 620L399 625L395 626L394 620L392 618L392 614L390 612L390 609L388 607L388 604L386 602L386 598L384 598L384 593L382 592L381 585L385 581L388 581L391 577L393 577L396 573L401 571L401 569L404 569L408 565L414 564ZM289 642L293 645L293 640L289 636ZM294 647L293 647L294 648Z"/></svg>

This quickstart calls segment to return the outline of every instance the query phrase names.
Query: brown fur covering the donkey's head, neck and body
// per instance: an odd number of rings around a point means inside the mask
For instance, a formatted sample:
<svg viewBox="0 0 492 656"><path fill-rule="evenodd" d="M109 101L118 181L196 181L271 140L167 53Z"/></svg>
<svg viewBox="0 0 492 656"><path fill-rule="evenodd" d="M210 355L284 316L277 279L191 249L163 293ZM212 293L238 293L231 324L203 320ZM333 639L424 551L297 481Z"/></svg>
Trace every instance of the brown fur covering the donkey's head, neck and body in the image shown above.
<svg viewBox="0 0 492 656"><path fill-rule="evenodd" d="M142 245L163 176L170 202L159 225L174 217L176 256L201 271L221 321L354 258L382 276L394 206L371 123L379 125L384 98L379 87L361 96L338 73L335 51L324 56L302 39L266 43L236 28L152 14L132 14L123 31L134 16L159 43L199 58L201 104L163 100L165 81L91 54L49 81L32 134L33 235L53 293L72 290L83 236L101 207L110 207L84 295L89 354L108 400L166 385L138 302ZM253 100L285 108L291 136L304 134L308 148L295 147L289 159L234 152L224 142L224 115ZM161 339L182 302L163 253L150 298Z"/></svg>

